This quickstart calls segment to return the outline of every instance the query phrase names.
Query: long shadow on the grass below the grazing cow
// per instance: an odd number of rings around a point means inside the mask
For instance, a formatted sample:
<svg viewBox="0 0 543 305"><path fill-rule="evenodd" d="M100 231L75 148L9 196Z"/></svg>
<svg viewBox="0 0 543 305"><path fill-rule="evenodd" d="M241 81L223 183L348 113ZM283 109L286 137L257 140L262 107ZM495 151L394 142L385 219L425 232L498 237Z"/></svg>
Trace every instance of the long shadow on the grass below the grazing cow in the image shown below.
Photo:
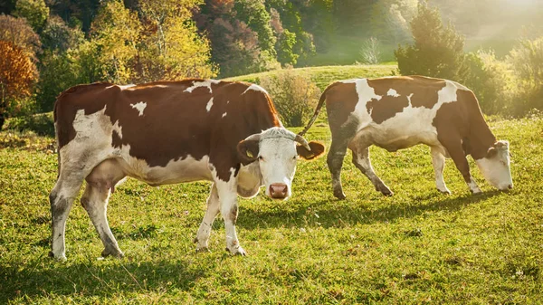
<svg viewBox="0 0 543 305"><path fill-rule="evenodd" d="M500 191L490 191L479 195L443 197L441 194L415 196L412 205L395 205L372 209L368 205L360 205L349 200L340 201L322 199L310 204L293 201L298 208L285 212L281 208L261 211L255 208L244 208L241 211L240 227L252 230L262 227L281 227L288 220L289 224L298 226L319 225L325 228L342 227L355 224L375 224L393 222L397 218L412 218L425 212L459 211L465 206L485 201ZM317 215L315 215L317 214Z"/></svg>

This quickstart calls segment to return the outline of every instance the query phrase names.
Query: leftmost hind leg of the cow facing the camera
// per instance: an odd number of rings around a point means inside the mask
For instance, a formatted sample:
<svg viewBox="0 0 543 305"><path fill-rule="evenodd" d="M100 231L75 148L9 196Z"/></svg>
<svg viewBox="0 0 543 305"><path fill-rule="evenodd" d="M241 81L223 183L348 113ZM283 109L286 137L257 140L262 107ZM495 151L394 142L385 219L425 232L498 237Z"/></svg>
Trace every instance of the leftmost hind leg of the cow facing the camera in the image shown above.
<svg viewBox="0 0 543 305"><path fill-rule="evenodd" d="M52 243L49 256L65 261L66 246L64 235L66 232L66 220L70 213L73 200L78 195L84 176L77 171L61 171L59 179L49 195L52 218Z"/></svg>

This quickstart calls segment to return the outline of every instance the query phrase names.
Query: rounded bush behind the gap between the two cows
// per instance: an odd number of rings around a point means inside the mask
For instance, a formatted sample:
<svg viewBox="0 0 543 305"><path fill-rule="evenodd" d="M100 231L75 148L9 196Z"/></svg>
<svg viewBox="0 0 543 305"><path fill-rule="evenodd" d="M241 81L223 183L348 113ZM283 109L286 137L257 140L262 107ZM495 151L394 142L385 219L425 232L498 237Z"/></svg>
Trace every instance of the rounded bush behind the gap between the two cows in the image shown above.
<svg viewBox="0 0 543 305"><path fill-rule="evenodd" d="M310 119L320 97L319 87L291 69L261 79L286 127L300 127Z"/></svg>

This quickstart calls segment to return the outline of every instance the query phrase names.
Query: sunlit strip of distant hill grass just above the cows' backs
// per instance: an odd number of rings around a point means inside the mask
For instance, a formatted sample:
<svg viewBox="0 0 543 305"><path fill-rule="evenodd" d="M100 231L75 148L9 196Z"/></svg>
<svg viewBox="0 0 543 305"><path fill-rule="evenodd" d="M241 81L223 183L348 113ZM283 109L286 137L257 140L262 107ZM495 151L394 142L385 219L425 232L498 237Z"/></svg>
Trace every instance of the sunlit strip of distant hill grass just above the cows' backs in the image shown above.
<svg viewBox="0 0 543 305"><path fill-rule="evenodd" d="M390 76L395 72L397 74L396 70L397 66L395 63L379 65L322 66L294 69L294 71L300 75L309 76L311 81L315 82L320 90L324 90L333 81ZM272 77L280 72L281 70L266 71L226 78L224 80L260 83L262 77Z"/></svg>

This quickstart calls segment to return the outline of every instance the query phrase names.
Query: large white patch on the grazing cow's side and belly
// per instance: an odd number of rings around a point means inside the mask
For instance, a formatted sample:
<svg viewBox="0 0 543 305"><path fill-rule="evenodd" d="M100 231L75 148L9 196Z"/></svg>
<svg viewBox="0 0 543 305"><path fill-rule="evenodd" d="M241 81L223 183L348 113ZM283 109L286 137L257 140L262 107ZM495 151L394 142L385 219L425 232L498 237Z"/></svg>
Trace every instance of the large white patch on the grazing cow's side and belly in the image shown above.
<svg viewBox="0 0 543 305"><path fill-rule="evenodd" d="M421 143L429 146L442 146L437 139L437 129L433 126L433 119L437 110L444 103L457 100L457 89L452 81L446 81L445 87L438 92L438 100L432 109L413 107L411 104L413 94L411 94L408 96L409 105L402 112L396 113L394 117L379 124L373 121L371 110L368 111L366 105L369 100L380 100L381 97L376 95L375 90L367 84L367 80L357 80L356 83L358 103L352 113L352 119L358 121L358 131L349 147L359 139L369 139L370 142L390 151L409 148Z"/></svg>

